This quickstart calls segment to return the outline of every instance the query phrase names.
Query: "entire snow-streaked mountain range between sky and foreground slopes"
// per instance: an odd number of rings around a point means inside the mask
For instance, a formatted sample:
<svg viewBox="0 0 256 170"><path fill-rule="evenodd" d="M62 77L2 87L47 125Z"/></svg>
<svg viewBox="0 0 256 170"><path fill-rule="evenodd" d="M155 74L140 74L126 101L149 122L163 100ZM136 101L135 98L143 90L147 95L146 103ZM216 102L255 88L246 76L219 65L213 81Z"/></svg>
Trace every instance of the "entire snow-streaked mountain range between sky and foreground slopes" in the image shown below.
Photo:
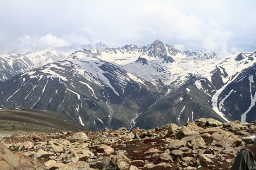
<svg viewBox="0 0 256 170"><path fill-rule="evenodd" d="M256 52L80 47L1 51L0 107L50 110L94 131L256 119Z"/></svg>

